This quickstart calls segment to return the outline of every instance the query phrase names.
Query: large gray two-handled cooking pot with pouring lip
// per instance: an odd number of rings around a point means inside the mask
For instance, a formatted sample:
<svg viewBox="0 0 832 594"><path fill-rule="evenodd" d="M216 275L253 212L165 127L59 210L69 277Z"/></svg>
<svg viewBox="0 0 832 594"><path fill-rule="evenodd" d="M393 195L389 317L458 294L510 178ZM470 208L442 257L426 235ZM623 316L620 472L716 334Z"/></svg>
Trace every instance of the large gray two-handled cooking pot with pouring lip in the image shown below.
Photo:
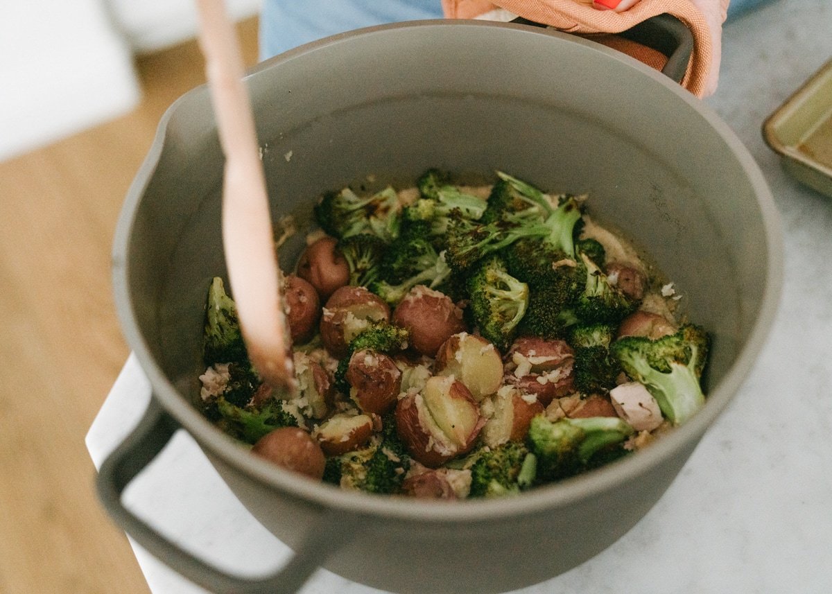
<svg viewBox="0 0 832 594"><path fill-rule="evenodd" d="M206 287L223 274L222 156L208 93L177 101L126 200L116 300L153 386L145 420L102 467L102 500L144 547L219 592L292 592L322 565L395 592L503 592L615 542L665 492L735 394L770 328L781 240L765 181L706 106L629 57L541 29L419 22L332 37L248 77L273 215L309 220L321 191L428 166L499 168L591 212L649 249L691 319L714 335L706 407L651 448L498 501L442 504L345 493L237 447L192 406ZM298 243L285 250L285 263ZM240 501L295 548L285 572L239 580L158 536L120 501L177 428ZM670 521L670 520L668 520Z"/></svg>

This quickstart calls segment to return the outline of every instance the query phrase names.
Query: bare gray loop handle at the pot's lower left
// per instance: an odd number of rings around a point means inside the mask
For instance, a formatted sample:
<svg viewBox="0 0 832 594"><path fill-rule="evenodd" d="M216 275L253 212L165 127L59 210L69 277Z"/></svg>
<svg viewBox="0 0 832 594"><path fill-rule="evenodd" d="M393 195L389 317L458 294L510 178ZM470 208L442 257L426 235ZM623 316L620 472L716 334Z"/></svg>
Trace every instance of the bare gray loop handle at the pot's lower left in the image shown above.
<svg viewBox="0 0 832 594"><path fill-rule="evenodd" d="M98 497L111 517L136 542L176 572L211 592L234 594L294 594L326 557L352 538L354 518L344 512L322 512L306 534L294 557L277 572L262 578L235 577L185 551L137 517L121 502L121 493L180 428L156 398L145 416L102 463L96 486ZM346 516L346 517L345 517Z"/></svg>

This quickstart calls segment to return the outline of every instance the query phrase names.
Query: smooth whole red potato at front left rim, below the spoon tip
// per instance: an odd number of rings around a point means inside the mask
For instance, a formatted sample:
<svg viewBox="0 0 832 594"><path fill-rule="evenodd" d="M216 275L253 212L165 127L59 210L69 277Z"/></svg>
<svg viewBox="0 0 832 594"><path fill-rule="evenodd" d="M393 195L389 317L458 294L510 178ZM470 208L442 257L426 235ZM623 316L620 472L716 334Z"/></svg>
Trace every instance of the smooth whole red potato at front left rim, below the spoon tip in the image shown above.
<svg viewBox="0 0 832 594"><path fill-rule="evenodd" d="M297 427L282 427L266 433L251 451L280 468L320 480L326 457L309 433Z"/></svg>

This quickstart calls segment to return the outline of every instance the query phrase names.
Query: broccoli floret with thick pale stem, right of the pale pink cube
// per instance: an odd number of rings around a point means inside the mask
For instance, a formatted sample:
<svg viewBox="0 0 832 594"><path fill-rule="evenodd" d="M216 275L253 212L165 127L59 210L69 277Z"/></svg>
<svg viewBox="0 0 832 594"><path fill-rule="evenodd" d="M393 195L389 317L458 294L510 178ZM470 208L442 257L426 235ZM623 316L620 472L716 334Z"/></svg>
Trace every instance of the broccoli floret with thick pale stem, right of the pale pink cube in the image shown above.
<svg viewBox="0 0 832 594"><path fill-rule="evenodd" d="M701 375L710 339L700 326L682 324L676 334L651 340L625 336L610 347L625 373L644 384L671 423L684 423L705 404Z"/></svg>

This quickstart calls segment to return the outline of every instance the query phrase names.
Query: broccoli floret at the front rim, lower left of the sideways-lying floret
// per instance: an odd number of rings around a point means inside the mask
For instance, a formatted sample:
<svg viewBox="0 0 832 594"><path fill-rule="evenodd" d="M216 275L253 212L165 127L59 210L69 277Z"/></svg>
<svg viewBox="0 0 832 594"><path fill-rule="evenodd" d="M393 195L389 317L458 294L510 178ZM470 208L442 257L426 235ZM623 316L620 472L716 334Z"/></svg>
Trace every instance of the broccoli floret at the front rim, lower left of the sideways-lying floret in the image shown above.
<svg viewBox="0 0 832 594"><path fill-rule="evenodd" d="M534 454L519 442L483 451L471 466L471 497L502 497L520 493L534 482Z"/></svg>

